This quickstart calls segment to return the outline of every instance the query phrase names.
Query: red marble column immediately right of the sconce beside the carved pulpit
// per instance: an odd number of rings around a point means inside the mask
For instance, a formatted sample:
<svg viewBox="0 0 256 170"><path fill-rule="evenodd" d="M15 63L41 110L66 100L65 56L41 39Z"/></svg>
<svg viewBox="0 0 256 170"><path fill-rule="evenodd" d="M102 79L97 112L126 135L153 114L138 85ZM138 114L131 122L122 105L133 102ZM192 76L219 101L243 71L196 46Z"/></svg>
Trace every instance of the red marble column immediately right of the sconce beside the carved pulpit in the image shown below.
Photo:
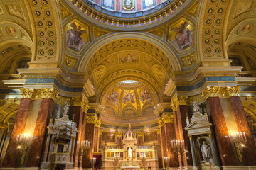
<svg viewBox="0 0 256 170"><path fill-rule="evenodd" d="M95 124L87 123L85 128L85 140L90 141L90 150L82 157L82 168L92 168L92 149L94 148Z"/></svg>

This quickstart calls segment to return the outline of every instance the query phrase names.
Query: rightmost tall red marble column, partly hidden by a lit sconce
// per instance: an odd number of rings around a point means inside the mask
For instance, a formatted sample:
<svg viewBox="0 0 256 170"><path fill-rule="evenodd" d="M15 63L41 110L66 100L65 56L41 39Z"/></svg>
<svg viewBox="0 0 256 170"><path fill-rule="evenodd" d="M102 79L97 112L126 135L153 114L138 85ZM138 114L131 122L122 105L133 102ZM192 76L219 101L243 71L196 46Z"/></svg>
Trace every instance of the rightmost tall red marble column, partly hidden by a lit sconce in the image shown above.
<svg viewBox="0 0 256 170"><path fill-rule="evenodd" d="M247 123L247 118L245 111L242 107L242 101L240 97L230 97L231 105L233 108L233 113L235 116L235 122L238 126L238 131L245 132L247 137L247 142L244 147L244 155L246 157L247 164L255 166L256 165L256 147L255 142L252 138L252 133L250 132L249 125Z"/></svg>

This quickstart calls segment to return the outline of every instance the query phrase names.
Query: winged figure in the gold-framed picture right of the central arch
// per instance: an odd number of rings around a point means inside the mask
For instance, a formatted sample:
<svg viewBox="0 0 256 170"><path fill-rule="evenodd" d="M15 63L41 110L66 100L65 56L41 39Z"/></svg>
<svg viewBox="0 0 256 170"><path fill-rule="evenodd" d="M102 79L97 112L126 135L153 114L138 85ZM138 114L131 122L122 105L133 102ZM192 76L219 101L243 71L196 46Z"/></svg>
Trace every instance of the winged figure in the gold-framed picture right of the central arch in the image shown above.
<svg viewBox="0 0 256 170"><path fill-rule="evenodd" d="M186 49L193 44L193 31L188 29L188 23L185 21L181 23L181 26L171 29L172 32L176 32L174 45L179 50Z"/></svg>

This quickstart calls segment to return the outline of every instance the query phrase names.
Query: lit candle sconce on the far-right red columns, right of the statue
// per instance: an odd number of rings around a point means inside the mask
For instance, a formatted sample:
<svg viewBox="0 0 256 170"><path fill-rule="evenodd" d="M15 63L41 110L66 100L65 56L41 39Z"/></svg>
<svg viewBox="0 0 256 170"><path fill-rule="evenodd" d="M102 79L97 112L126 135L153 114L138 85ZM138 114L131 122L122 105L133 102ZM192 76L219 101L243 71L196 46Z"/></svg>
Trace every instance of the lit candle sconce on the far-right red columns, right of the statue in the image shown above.
<svg viewBox="0 0 256 170"><path fill-rule="evenodd" d="M245 142L247 142L245 132L234 132L229 136L235 143L235 150L238 154L238 160L242 162L242 147L245 147Z"/></svg>

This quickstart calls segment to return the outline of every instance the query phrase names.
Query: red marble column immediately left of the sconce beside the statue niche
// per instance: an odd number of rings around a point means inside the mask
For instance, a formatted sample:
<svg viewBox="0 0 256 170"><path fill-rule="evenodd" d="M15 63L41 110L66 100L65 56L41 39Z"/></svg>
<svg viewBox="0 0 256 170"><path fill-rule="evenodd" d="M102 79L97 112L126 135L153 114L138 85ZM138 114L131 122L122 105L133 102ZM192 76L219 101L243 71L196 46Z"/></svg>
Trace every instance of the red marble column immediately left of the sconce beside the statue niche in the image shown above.
<svg viewBox="0 0 256 170"><path fill-rule="evenodd" d="M166 123L164 125L164 133L166 139L166 148L168 149L169 157L169 167L178 167L178 157L174 152L174 149L171 148L171 140L176 140L174 123Z"/></svg>

